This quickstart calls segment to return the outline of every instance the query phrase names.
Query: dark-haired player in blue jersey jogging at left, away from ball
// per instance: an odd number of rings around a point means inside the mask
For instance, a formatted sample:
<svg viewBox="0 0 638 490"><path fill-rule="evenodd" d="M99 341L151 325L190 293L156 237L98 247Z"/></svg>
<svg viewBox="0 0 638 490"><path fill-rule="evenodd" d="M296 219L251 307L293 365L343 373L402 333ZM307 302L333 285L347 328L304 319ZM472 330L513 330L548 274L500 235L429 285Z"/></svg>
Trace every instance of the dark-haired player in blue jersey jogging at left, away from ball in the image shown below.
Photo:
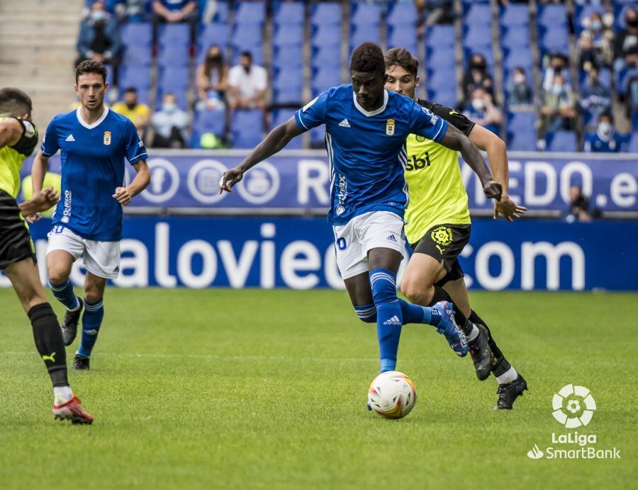
<svg viewBox="0 0 638 490"><path fill-rule="evenodd" d="M89 369L89 358L104 316L106 281L117 278L122 239L122 207L150 182L146 149L135 125L104 106L108 90L106 68L85 61L75 71L75 92L82 104L77 110L53 118L31 178L33 191L42 188L50 156L61 152L62 190L53 215L47 249L47 270L53 295L67 307L62 335L69 346L82 315L82 341L74 369ZM125 159L136 175L125 185ZM30 220L38 219L37 216ZM84 299L69 281L71 267L84 255Z"/></svg>

